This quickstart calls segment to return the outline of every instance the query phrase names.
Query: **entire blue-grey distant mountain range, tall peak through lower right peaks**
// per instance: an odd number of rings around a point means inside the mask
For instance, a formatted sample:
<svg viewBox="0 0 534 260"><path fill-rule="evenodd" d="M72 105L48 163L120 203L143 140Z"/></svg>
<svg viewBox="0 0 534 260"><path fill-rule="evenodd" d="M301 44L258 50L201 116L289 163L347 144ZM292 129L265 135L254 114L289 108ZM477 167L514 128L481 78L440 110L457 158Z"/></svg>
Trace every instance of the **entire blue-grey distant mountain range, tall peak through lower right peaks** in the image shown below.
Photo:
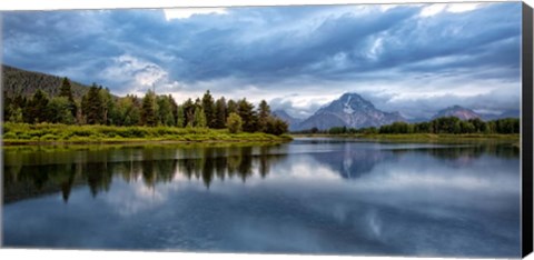
<svg viewBox="0 0 534 260"><path fill-rule="evenodd" d="M328 106L317 110L307 119L296 119L290 117L284 110L275 110L275 116L289 123L290 131L299 131L317 128L319 130L330 129L333 127L347 128L367 128L380 127L394 122L423 122L442 117L456 117L462 120L482 119L495 120L501 118L518 118L518 110L505 111L501 114L477 113L472 109L461 106L453 106L439 110L432 118L406 119L399 112L382 111L357 93L345 93L339 99L332 101Z"/></svg>

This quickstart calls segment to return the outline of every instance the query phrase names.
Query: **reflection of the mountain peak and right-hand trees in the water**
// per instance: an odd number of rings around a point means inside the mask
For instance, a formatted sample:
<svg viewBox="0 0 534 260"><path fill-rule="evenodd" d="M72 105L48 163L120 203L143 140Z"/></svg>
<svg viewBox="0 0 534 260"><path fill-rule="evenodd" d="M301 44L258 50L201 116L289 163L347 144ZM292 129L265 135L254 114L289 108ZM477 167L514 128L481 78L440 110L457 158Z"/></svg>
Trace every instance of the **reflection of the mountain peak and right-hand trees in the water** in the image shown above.
<svg viewBox="0 0 534 260"><path fill-rule="evenodd" d="M517 160L520 149L512 144L403 144L403 143L355 143L312 141L312 143L327 144L328 152L310 152L318 162L329 166L345 179L358 179L374 171L376 166L396 163L405 157L415 156L415 163L429 167L447 164L456 168L468 167L482 157L498 158L502 160ZM307 142L304 142L306 146ZM433 161L428 161L433 158ZM438 161L436 161L438 160ZM417 162L418 161L418 162ZM497 166L498 167L498 166ZM415 170L415 169L414 169Z"/></svg>

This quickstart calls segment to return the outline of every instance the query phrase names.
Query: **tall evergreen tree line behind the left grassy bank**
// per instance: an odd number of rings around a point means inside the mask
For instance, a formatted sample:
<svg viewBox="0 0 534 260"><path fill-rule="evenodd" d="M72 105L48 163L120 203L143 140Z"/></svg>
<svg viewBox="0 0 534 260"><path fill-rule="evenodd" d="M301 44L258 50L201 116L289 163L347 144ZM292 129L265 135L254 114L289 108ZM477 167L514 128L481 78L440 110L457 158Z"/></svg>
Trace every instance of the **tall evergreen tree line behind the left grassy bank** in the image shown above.
<svg viewBox="0 0 534 260"><path fill-rule="evenodd" d="M62 79L56 97L48 97L41 89L30 98L6 96L3 113L6 121L26 123L227 128L233 133L273 134L285 133L288 129L285 121L270 113L265 100L255 108L246 98L235 101L220 97L215 100L207 90L201 98L189 98L178 104L170 94L156 94L151 90L144 98L132 94L116 98L109 89L96 83L80 100L73 98L68 78Z"/></svg>

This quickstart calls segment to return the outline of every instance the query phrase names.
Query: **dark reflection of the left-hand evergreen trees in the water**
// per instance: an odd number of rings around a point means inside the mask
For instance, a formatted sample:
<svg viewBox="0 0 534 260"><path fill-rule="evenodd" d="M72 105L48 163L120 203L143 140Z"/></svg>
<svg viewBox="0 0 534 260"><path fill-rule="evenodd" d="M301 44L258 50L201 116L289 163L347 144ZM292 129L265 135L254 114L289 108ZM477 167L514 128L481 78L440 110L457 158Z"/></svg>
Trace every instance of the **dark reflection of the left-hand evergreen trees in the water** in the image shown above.
<svg viewBox="0 0 534 260"><path fill-rule="evenodd" d="M91 194L109 191L113 177L126 182L142 180L146 187L171 182L181 174L187 179L201 180L209 189L214 179L239 178L244 182L253 176L255 168L261 178L269 173L269 164L283 159L285 153L273 153L279 147L195 147L181 149L179 159L170 153L171 148L142 150L131 153L102 157L102 161L61 164L14 164L4 167L4 202L38 197L61 191L68 202L73 186L87 184ZM126 150L131 149L127 148ZM134 148L135 149L135 148ZM164 156L162 156L164 154ZM90 154L88 158L92 158ZM117 160L118 158L130 160ZM156 158L156 159L155 159ZM109 160L108 160L109 159Z"/></svg>

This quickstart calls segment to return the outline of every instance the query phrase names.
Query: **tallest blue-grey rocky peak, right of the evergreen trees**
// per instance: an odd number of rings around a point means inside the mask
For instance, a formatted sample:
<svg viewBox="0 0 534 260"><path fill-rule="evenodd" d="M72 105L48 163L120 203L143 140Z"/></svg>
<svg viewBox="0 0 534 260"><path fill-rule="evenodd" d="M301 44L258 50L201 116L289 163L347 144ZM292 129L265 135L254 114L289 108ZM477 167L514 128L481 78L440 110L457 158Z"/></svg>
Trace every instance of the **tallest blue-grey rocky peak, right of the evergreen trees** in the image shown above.
<svg viewBox="0 0 534 260"><path fill-rule="evenodd" d="M333 127L366 128L380 127L396 121L406 121L398 112L384 112L362 98L357 93L345 93L328 106L317 110L312 117L303 121L299 130L318 128L320 130Z"/></svg>

